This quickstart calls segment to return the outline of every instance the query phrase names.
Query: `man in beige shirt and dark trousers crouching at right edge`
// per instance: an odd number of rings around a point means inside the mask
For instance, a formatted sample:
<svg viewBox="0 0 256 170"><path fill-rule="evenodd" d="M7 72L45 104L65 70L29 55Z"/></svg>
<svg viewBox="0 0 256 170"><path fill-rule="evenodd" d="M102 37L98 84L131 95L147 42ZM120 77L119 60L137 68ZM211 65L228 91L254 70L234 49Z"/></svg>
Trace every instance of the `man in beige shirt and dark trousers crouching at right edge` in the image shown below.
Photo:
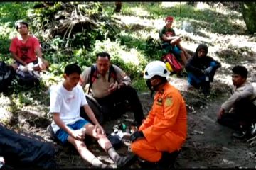
<svg viewBox="0 0 256 170"><path fill-rule="evenodd" d="M237 65L232 69L231 96L218 111L218 123L234 128L234 137L243 138L256 134L256 88L247 80L248 71Z"/></svg>

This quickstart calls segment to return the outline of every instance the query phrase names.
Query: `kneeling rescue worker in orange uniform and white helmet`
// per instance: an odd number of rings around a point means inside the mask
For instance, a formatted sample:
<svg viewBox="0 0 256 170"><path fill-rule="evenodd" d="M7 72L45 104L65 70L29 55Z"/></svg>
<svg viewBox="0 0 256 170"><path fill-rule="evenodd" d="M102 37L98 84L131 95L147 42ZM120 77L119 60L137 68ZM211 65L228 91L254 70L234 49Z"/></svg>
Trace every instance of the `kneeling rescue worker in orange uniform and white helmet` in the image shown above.
<svg viewBox="0 0 256 170"><path fill-rule="evenodd" d="M167 81L168 75L164 62L153 61L146 66L146 84L157 92L149 115L130 137L132 152L153 164L169 164L171 154L179 153L186 141L186 103L178 89Z"/></svg>

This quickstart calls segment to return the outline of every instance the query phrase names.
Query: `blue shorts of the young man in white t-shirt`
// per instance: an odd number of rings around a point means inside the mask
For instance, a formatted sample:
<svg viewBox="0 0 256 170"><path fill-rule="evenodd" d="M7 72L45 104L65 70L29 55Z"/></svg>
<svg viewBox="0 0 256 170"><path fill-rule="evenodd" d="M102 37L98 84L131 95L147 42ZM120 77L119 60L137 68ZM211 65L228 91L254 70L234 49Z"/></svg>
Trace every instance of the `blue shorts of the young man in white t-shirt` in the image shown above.
<svg viewBox="0 0 256 170"><path fill-rule="evenodd" d="M71 124L71 125L67 125L69 128L73 129L73 130L78 130L82 127L84 127L84 125L86 125L87 123L89 123L87 120L82 119L82 120L78 120L75 123ZM63 145L68 141L68 133L65 132L65 130L60 129L55 133L55 137L58 138L58 140L60 140Z"/></svg>

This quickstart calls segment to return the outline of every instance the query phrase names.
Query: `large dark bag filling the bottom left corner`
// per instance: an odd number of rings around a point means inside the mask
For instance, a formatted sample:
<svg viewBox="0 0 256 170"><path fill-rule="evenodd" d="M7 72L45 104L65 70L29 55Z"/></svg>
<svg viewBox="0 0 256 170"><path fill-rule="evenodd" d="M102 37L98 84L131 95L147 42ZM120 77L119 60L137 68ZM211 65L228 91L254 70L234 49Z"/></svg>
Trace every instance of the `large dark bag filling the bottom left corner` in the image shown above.
<svg viewBox="0 0 256 170"><path fill-rule="evenodd" d="M55 169L55 148L42 137L18 134L0 124L0 155L14 168Z"/></svg>

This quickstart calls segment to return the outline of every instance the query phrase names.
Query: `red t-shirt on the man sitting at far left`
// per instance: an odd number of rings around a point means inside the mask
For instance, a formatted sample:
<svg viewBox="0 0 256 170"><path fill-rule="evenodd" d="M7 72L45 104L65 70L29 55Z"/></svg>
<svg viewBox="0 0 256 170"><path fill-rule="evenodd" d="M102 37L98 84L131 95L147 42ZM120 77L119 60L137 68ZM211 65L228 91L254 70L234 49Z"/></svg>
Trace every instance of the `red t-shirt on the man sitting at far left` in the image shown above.
<svg viewBox="0 0 256 170"><path fill-rule="evenodd" d="M38 47L41 47L38 38L30 35L26 42L22 42L18 37L13 38L11 40L9 51L16 53L23 62L29 63L37 60L35 50Z"/></svg>

